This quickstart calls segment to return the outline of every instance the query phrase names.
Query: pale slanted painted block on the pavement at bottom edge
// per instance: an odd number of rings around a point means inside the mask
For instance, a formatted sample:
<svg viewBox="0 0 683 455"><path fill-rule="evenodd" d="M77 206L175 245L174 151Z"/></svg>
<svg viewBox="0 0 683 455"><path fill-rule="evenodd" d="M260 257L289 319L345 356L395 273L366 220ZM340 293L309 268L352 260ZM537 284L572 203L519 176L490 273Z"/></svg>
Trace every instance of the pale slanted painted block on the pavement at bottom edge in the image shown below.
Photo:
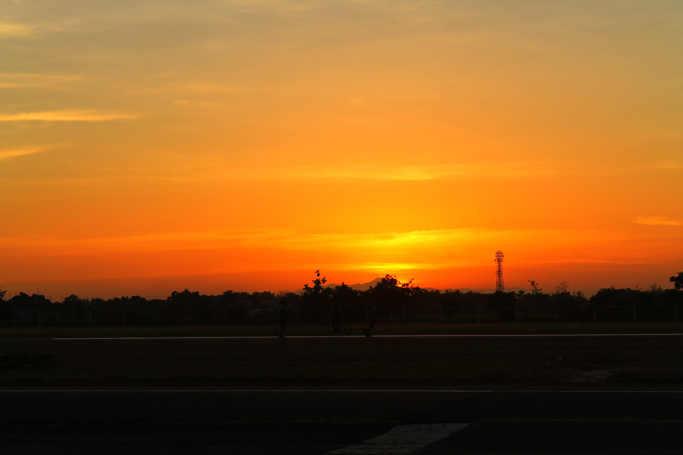
<svg viewBox="0 0 683 455"><path fill-rule="evenodd" d="M468 424L399 425L384 435L367 439L326 455L404 455L452 435Z"/></svg>

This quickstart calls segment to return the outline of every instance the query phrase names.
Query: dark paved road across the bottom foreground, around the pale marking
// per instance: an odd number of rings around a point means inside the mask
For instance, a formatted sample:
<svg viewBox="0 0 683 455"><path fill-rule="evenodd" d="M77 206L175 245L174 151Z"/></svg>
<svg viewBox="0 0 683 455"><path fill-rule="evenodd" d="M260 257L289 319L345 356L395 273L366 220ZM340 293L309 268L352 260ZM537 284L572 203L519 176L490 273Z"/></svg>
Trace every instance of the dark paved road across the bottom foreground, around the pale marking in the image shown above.
<svg viewBox="0 0 683 455"><path fill-rule="evenodd" d="M401 424L415 452L683 454L683 386L250 383L0 387L13 454L322 455Z"/></svg>

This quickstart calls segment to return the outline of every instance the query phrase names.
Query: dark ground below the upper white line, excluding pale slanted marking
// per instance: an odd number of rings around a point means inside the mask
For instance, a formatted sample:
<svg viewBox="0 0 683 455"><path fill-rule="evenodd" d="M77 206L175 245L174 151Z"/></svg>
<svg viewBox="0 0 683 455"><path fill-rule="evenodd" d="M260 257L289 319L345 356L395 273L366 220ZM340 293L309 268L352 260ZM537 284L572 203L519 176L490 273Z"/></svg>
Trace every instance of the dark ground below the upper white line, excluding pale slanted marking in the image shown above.
<svg viewBox="0 0 683 455"><path fill-rule="evenodd" d="M0 453L683 454L683 336L3 339ZM381 453L381 452L376 452Z"/></svg>

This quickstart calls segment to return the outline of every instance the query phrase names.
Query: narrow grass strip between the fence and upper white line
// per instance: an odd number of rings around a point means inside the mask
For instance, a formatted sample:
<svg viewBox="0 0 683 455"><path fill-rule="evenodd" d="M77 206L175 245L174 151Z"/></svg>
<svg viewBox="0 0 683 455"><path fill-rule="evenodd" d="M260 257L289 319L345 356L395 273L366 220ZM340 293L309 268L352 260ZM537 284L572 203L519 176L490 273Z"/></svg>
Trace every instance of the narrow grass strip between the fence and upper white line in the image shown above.
<svg viewBox="0 0 683 455"><path fill-rule="evenodd" d="M0 329L1 338L98 338L159 336L273 336L275 325L201 325L195 327L31 327ZM352 325L352 335L366 325ZM514 334L683 334L683 323L495 323L385 324L375 335L514 335ZM315 325L290 325L288 336L316 335Z"/></svg>

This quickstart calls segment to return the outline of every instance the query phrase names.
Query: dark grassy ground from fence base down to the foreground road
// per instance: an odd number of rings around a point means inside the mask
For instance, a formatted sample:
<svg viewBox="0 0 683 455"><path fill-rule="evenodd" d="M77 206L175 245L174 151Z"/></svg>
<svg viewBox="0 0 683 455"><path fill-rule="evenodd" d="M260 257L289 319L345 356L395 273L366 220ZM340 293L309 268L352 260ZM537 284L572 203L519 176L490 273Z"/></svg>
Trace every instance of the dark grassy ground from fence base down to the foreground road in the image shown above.
<svg viewBox="0 0 683 455"><path fill-rule="evenodd" d="M356 333L361 327L354 327ZM678 338L273 338L272 327L3 331L0 353L51 354L0 381L683 380ZM671 325L380 326L377 334L679 333ZM313 334L292 327L290 334ZM53 340L72 336L262 338Z"/></svg>

